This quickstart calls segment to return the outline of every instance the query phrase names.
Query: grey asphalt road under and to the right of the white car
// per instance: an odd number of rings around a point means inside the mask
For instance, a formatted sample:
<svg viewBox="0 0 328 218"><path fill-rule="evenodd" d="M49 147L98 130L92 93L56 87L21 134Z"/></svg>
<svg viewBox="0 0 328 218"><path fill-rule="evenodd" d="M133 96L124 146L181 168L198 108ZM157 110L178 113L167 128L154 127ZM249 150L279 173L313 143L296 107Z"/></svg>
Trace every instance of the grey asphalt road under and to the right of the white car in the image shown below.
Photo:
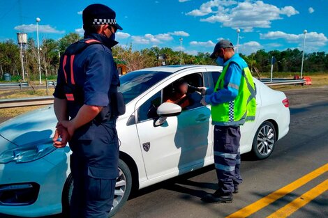
<svg viewBox="0 0 328 218"><path fill-rule="evenodd" d="M140 190L115 218L226 217L258 200L235 217L245 217L245 212L249 212L249 217L268 217L285 205L296 210L290 217L328 217L327 167L325 173L315 171L328 163L328 87L285 93L291 104L290 132L278 141L268 159L253 161L242 155L244 182L233 203L200 201L204 194L217 188L214 166L208 166ZM313 171L311 179L299 180ZM276 192L278 189L281 190ZM306 201L309 203L303 205Z"/></svg>

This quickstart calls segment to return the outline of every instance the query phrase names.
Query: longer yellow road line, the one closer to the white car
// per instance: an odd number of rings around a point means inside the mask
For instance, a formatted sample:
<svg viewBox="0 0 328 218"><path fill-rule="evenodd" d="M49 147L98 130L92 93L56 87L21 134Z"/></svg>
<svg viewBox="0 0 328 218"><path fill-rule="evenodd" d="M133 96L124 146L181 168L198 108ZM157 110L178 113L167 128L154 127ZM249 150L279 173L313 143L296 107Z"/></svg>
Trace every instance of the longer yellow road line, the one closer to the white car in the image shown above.
<svg viewBox="0 0 328 218"><path fill-rule="evenodd" d="M325 173L327 171L328 164L325 164L320 168L315 169L315 171L312 171L311 173L308 173L305 176L299 178L298 180L295 180L294 182L286 185L285 187L282 187L281 189L272 192L271 194L265 196L264 198L261 198L258 201L255 201L254 203L246 206L245 208L241 208L241 210L238 210L237 212L234 212L231 215L228 215L228 217L226 218L240 218L253 215L253 213L257 212L258 210L265 208L267 205L273 203L279 198L285 196L286 194L289 194L295 189L298 189L299 187L305 185L307 182L310 182L311 180L317 178L322 173Z"/></svg>

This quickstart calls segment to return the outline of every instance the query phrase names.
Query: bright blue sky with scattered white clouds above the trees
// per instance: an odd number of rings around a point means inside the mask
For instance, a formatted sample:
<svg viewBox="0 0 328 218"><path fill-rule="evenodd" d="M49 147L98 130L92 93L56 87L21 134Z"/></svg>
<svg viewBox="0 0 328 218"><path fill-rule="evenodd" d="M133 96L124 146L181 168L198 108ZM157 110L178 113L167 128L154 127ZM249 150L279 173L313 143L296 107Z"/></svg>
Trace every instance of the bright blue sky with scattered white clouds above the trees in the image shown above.
<svg viewBox="0 0 328 218"><path fill-rule="evenodd" d="M36 38L36 17L40 17L40 38L59 39L70 32L82 34L82 10L90 3L104 3L117 12L123 31L120 45L133 49L171 47L189 54L211 52L221 38L230 39L239 52L250 54L287 48L302 49L304 29L306 52L328 52L327 0L1 0L0 40L16 40L24 31Z"/></svg>

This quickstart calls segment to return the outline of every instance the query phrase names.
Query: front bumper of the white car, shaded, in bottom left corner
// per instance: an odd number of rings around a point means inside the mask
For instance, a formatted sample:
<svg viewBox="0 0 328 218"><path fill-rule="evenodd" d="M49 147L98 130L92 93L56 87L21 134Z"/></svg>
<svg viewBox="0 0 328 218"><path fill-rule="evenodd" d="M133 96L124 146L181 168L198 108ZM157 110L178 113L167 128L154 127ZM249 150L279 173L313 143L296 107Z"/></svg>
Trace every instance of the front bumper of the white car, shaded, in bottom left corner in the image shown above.
<svg viewBox="0 0 328 218"><path fill-rule="evenodd" d="M36 199L28 199L32 201L22 205L18 205L16 200L8 201L7 197L5 203L0 202L0 214L40 217L60 213L62 190L66 180L66 170L63 170L63 167L68 168L67 160L63 159L59 165L61 166L55 166L45 158L28 163L0 164L0 190L3 187L6 196L10 196L10 189L16 192L17 187L23 192L24 189L29 192L28 188L33 189L33 192L38 191ZM3 199L6 196L2 196Z"/></svg>

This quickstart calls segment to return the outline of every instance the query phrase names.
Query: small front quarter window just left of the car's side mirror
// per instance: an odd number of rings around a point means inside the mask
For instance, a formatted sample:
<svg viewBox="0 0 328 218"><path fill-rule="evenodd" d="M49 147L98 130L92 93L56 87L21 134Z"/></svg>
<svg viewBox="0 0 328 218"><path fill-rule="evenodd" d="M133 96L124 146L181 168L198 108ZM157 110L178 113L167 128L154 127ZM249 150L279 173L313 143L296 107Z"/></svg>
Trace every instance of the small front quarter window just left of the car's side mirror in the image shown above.
<svg viewBox="0 0 328 218"><path fill-rule="evenodd" d="M157 108L161 105L161 103L162 91L159 91L139 107L137 113L139 122L158 117Z"/></svg>

